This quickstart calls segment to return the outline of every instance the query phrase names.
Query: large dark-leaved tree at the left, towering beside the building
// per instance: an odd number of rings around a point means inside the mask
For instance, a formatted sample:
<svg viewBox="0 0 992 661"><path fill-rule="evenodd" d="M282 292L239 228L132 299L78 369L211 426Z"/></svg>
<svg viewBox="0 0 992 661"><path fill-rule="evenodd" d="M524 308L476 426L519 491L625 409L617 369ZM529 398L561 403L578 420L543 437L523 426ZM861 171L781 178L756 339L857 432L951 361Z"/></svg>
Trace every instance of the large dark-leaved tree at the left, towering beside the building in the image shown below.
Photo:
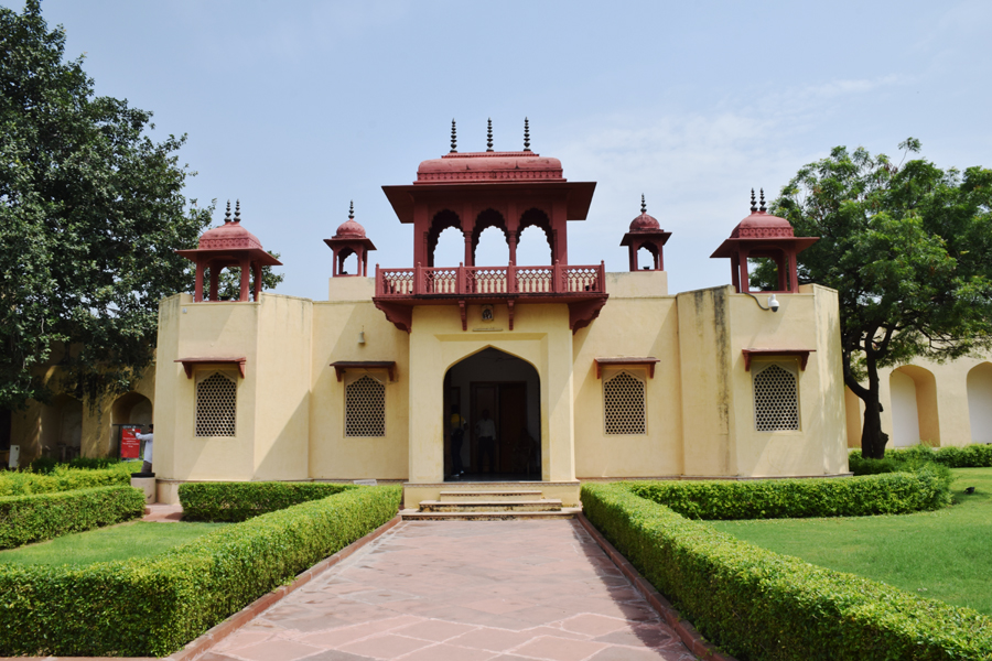
<svg viewBox="0 0 992 661"><path fill-rule="evenodd" d="M211 219L182 195L185 137L152 141L151 112L96 96L64 50L37 0L0 8L0 408L44 400L53 359L77 397L128 389L159 300L190 289L173 250Z"/></svg>

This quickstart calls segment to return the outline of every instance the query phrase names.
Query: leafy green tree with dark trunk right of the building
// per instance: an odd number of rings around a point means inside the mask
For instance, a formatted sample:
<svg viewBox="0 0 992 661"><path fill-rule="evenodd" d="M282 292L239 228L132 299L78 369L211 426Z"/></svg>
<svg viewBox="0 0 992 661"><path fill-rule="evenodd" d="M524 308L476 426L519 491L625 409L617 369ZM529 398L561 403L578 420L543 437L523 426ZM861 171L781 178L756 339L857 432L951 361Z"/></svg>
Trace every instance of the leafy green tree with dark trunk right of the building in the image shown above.
<svg viewBox="0 0 992 661"><path fill-rule="evenodd" d="M880 368L992 346L992 171L906 161L920 149L912 138L899 149L895 164L838 147L800 169L772 205L797 236L820 237L799 254L799 281L840 293L844 383L864 401L870 458L882 458L888 440Z"/></svg>

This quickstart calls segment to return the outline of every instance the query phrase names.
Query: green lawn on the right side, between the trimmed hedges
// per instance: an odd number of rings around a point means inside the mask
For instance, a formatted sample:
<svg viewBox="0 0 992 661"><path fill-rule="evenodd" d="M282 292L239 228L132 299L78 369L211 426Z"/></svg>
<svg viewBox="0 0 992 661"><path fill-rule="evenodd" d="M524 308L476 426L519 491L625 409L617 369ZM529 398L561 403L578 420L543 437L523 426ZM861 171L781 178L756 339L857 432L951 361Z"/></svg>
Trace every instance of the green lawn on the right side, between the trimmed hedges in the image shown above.
<svg viewBox="0 0 992 661"><path fill-rule="evenodd" d="M957 505L936 512L710 524L816 565L992 615L992 468L952 473ZM975 492L966 495L966 487Z"/></svg>

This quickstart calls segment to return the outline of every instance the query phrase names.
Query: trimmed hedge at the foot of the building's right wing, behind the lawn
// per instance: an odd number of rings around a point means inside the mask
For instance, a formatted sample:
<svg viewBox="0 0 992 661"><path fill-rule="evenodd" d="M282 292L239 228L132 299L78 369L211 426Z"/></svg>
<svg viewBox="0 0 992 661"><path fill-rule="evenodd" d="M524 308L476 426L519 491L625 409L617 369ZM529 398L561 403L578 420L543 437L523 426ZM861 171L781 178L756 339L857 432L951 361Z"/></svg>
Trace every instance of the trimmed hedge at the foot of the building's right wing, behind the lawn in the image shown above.
<svg viewBox="0 0 992 661"><path fill-rule="evenodd" d="M903 514L951 503L950 485L928 466L829 479L632 481L641 498L690 519L799 519Z"/></svg>

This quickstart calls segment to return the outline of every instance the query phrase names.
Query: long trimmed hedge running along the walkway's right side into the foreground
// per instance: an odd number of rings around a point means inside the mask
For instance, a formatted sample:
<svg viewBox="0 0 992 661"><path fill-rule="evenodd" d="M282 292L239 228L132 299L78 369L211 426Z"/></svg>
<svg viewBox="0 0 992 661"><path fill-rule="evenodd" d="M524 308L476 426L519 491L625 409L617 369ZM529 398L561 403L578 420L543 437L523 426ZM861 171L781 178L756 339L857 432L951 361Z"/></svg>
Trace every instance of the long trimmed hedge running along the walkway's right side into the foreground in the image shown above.
<svg viewBox="0 0 992 661"><path fill-rule="evenodd" d="M992 618L779 555L640 498L582 485L592 523L742 661L992 659Z"/></svg>

